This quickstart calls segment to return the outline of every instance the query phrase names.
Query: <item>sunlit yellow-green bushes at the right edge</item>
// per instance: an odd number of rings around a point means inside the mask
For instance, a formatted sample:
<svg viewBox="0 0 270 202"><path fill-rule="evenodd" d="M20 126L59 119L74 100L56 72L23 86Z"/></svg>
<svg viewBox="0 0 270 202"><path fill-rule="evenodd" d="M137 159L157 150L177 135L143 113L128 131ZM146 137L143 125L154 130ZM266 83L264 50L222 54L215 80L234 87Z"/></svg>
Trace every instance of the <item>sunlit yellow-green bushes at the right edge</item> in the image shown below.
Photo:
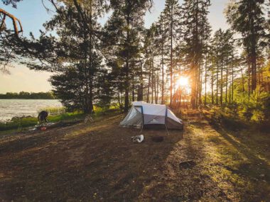
<svg viewBox="0 0 270 202"><path fill-rule="evenodd" d="M231 130L239 130L254 125L265 130L270 123L270 95L266 93L238 96L233 103L221 107L212 106L210 120L212 124L221 124Z"/></svg>

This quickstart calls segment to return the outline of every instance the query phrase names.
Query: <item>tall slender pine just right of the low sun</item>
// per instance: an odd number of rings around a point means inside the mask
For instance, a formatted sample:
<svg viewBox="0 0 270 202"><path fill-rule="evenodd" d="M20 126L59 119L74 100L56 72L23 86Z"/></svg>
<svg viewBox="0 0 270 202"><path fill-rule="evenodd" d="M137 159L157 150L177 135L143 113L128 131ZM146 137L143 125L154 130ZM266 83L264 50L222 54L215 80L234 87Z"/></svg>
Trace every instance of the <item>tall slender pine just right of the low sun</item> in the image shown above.
<svg viewBox="0 0 270 202"><path fill-rule="evenodd" d="M207 21L209 0L185 0L183 11L183 30L186 64L190 65L191 100L193 108L198 105L199 71L205 41L210 37L210 25Z"/></svg>

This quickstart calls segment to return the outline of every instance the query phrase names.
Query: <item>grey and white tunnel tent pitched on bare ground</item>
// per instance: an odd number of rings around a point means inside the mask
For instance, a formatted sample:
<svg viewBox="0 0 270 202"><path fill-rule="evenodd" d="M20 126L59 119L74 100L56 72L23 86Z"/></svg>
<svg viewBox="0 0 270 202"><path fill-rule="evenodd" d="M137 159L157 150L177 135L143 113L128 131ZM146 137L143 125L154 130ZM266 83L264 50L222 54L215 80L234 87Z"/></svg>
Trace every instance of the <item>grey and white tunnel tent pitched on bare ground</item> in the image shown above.
<svg viewBox="0 0 270 202"><path fill-rule="evenodd" d="M123 127L183 129L183 123L166 105L134 101L126 117L120 123Z"/></svg>

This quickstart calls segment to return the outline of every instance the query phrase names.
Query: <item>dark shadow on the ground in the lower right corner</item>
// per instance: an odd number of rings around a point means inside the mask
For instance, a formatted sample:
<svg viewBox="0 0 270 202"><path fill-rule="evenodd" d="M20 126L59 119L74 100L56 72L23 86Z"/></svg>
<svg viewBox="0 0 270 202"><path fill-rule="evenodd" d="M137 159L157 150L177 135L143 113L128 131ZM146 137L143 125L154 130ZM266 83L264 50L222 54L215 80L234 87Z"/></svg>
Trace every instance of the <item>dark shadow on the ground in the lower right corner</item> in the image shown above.
<svg viewBox="0 0 270 202"><path fill-rule="evenodd" d="M239 191L240 198L242 201L264 201L270 198L269 196L269 182L270 182L270 164L269 159L258 153L257 149L260 145L251 145L250 140L244 140L244 138L239 137L241 135L239 132L232 132L230 130L225 130L220 126L214 125L212 127L217 133L219 133L222 138L225 138L231 144L240 155L245 159L244 162L240 162L237 165L237 168L232 168L230 166L223 166L232 174L237 174L238 176L244 177L246 181L251 183L252 194L249 194L249 191L242 190ZM261 134L257 134L261 135ZM251 189L250 189L251 190ZM252 197L254 199L252 199ZM264 199L264 200L263 200Z"/></svg>

